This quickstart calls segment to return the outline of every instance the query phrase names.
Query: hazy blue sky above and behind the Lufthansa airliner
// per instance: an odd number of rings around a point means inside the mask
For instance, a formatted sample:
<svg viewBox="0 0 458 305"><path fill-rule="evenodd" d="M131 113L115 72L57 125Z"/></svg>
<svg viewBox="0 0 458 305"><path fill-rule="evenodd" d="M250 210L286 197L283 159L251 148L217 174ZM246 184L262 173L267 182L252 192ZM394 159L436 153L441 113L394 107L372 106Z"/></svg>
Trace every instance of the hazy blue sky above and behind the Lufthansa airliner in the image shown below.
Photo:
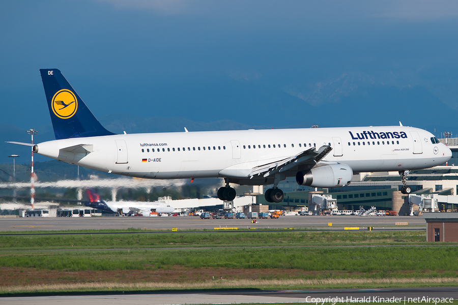
<svg viewBox="0 0 458 305"><path fill-rule="evenodd" d="M23 129L50 124L41 68L97 117L453 128L458 2L4 0L0 58Z"/></svg>

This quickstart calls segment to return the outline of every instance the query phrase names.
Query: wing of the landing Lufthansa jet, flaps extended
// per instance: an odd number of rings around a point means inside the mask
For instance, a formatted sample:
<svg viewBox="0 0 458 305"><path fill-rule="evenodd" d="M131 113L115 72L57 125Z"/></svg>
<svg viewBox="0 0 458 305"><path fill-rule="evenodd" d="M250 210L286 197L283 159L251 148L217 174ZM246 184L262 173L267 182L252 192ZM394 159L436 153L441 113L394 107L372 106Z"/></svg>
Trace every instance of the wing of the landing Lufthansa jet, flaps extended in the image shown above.
<svg viewBox="0 0 458 305"><path fill-rule="evenodd" d="M316 149L316 147L312 147L289 158L256 166L251 170L249 174L250 179L253 178L255 175L263 175L263 177L267 177L272 174L281 173L288 170L294 170L296 167L299 167L299 165L303 164L311 163L315 165L324 157L326 157L326 155L329 154L331 150L332 147L327 145L321 146L318 150Z"/></svg>

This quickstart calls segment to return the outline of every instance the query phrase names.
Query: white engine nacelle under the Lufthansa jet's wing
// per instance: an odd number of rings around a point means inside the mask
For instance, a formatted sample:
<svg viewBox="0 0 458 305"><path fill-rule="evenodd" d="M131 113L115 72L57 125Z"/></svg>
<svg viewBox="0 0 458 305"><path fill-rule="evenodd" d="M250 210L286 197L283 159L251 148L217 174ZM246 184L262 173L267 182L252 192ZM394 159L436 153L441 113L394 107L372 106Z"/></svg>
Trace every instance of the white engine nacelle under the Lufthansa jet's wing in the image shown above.
<svg viewBox="0 0 458 305"><path fill-rule="evenodd" d="M313 167L305 174L296 174L296 182L313 188L345 187L352 181L353 170L347 164L329 164Z"/></svg>

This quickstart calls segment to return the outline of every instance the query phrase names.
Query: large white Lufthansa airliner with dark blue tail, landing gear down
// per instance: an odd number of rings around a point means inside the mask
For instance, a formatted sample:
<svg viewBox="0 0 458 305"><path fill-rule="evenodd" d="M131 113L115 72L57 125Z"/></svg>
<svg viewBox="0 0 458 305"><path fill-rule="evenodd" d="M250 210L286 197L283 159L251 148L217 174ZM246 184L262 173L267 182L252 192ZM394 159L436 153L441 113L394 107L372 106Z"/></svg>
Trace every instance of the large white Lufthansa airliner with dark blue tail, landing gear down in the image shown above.
<svg viewBox="0 0 458 305"><path fill-rule="evenodd" d="M411 192L409 170L444 164L450 149L422 129L399 126L113 134L95 118L58 69L41 69L55 140L35 153L108 173L152 179L224 178L221 200L239 185L273 185L268 202L281 202L278 184L348 186L354 172L398 171ZM10 142L32 146L28 143Z"/></svg>

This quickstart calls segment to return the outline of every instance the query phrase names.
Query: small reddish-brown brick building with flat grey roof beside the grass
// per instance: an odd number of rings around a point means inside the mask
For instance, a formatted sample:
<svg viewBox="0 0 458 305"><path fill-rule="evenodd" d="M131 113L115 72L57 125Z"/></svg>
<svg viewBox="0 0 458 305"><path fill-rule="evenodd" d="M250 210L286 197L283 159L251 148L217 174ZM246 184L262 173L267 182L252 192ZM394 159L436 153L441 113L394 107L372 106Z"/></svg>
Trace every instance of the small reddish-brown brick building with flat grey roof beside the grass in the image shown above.
<svg viewBox="0 0 458 305"><path fill-rule="evenodd" d="M458 242L458 213L423 212L426 241Z"/></svg>

